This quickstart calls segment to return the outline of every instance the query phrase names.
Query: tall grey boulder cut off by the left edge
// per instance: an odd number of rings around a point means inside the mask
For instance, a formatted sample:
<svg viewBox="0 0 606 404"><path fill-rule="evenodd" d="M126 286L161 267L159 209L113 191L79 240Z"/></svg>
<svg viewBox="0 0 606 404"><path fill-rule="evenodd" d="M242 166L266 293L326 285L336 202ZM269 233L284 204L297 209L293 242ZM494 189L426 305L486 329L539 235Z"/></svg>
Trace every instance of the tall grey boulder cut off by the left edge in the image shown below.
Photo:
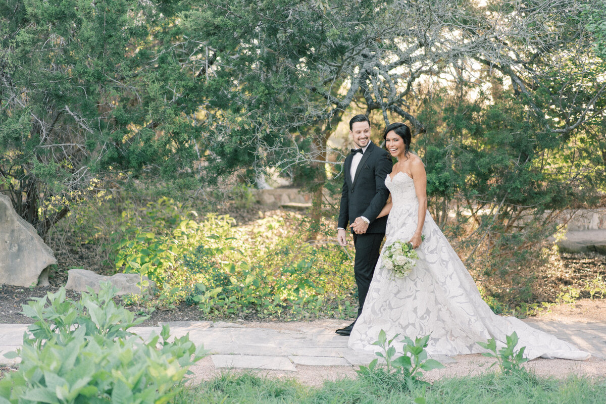
<svg viewBox="0 0 606 404"><path fill-rule="evenodd" d="M48 285L47 267L54 263L53 251L0 193L0 284Z"/></svg>

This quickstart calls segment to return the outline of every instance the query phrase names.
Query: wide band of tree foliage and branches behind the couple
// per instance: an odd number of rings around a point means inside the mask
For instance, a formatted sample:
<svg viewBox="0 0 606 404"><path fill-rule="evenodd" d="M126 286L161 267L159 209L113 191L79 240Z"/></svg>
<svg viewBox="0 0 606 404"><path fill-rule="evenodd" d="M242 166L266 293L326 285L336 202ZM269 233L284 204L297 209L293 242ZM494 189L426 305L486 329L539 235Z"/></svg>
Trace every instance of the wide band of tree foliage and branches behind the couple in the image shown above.
<svg viewBox="0 0 606 404"><path fill-rule="evenodd" d="M362 112L413 128L439 219L456 200L482 234L512 234L529 212L604 190L604 10L602 0L7 0L0 187L41 233L121 178L198 187L276 167L321 192L325 165L340 172L330 136Z"/></svg>

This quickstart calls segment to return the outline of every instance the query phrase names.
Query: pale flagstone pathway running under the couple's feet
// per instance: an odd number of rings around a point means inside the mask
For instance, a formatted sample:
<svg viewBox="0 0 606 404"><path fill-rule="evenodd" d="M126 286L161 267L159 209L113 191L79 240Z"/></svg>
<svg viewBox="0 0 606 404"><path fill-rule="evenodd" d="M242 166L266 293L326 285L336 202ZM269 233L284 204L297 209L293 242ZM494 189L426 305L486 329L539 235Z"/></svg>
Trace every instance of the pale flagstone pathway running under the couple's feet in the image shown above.
<svg viewBox="0 0 606 404"><path fill-rule="evenodd" d="M539 374L564 376L569 373L606 376L606 322L570 322L525 320L531 326L554 334L593 356L585 362L536 359L528 367ZM316 320L293 323L228 323L171 322L170 334L181 337L189 333L196 345L204 345L210 355L191 370L195 379L208 379L221 369L255 369L278 377L295 377L304 383L318 385L325 379L353 376L358 365L367 365L373 354L357 353L347 348L347 337L335 334L342 320ZM4 353L21 346L27 325L0 324L0 364L14 365ZM161 327L130 329L146 339L159 333ZM481 355L456 357L435 356L446 369L427 373L428 379L442 376L475 374L486 371L493 362Z"/></svg>

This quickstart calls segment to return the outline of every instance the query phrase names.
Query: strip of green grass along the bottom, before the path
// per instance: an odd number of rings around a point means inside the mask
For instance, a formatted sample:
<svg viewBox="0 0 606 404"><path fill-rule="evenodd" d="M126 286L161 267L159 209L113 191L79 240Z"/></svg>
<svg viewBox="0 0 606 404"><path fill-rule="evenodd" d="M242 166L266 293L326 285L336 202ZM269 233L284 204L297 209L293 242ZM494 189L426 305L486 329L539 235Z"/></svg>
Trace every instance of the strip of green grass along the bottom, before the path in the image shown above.
<svg viewBox="0 0 606 404"><path fill-rule="evenodd" d="M393 374L360 376L325 382L321 388L302 386L295 380L277 380L251 373L224 373L208 382L185 389L175 404L214 403L303 403L303 404L396 404L413 403L604 403L606 379L570 376L565 380L543 379L528 373L490 373L474 377L442 379L433 385L415 383Z"/></svg>

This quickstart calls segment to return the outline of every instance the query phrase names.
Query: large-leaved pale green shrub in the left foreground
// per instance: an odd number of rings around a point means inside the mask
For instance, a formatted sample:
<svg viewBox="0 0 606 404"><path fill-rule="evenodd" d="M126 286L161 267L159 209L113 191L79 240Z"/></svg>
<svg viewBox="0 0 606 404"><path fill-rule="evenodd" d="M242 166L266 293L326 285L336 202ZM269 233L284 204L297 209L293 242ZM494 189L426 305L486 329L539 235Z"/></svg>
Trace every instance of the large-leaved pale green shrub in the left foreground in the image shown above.
<svg viewBox="0 0 606 404"><path fill-rule="evenodd" d="M168 327L144 342L127 331L143 319L99 294L65 299L65 289L24 305L35 320L16 355L16 372L0 380L0 403L167 403L183 386L202 349L188 336L167 342ZM48 298L48 305L46 304Z"/></svg>

